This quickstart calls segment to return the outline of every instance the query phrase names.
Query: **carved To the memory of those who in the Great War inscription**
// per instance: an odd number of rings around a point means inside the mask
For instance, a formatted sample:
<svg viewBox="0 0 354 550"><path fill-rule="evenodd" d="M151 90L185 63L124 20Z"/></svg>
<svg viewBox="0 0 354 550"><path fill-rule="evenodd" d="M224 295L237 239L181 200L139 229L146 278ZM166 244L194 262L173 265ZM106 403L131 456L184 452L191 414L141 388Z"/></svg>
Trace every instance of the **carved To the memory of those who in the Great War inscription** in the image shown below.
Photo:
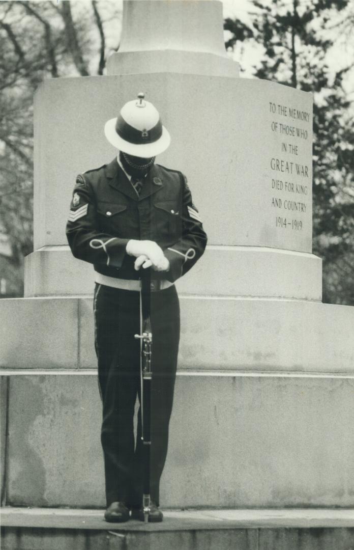
<svg viewBox="0 0 354 550"><path fill-rule="evenodd" d="M269 160L273 221L279 229L302 231L311 214L311 166L303 153L308 152L311 114L295 105L271 101L269 112L274 116L272 132L281 137L278 152Z"/></svg>

